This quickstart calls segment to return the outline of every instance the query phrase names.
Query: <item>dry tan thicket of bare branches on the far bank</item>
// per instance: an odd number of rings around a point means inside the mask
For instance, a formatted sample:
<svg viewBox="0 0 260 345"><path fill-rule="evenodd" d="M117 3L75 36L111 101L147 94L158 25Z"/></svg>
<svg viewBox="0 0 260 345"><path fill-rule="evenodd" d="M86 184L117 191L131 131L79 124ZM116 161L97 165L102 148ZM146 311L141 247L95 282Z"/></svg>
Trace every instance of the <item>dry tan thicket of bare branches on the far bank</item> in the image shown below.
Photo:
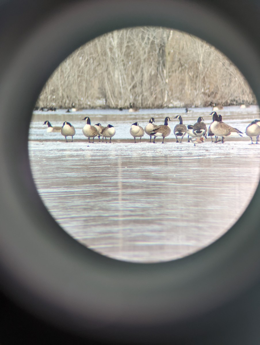
<svg viewBox="0 0 260 345"><path fill-rule="evenodd" d="M222 53L190 34L158 27L110 32L55 70L37 105L78 108L256 104L247 81Z"/></svg>

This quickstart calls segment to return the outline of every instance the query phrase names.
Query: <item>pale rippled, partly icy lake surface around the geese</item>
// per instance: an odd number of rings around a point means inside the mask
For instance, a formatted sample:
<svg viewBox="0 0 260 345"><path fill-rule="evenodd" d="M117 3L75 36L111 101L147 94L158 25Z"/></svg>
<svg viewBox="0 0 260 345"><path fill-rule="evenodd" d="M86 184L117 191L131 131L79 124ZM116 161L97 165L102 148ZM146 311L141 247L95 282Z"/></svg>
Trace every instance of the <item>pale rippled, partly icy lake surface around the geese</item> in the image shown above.
<svg viewBox="0 0 260 345"><path fill-rule="evenodd" d="M224 144L207 139L193 146L175 142L173 128L180 114L185 124L199 116L211 123L211 108L82 110L72 114L35 112L29 132L31 170L40 197L60 226L88 248L132 262L167 261L186 256L223 235L243 213L259 183L260 145L250 138L229 138ZM259 108L227 107L223 121L245 131L259 118ZM116 129L111 144L89 144L82 119ZM134 144L133 122L145 126L150 117L162 124L171 118L167 144L150 144L145 135ZM47 133L69 121L74 142ZM69 139L69 138L68 138ZM220 216L221 215L221 216Z"/></svg>

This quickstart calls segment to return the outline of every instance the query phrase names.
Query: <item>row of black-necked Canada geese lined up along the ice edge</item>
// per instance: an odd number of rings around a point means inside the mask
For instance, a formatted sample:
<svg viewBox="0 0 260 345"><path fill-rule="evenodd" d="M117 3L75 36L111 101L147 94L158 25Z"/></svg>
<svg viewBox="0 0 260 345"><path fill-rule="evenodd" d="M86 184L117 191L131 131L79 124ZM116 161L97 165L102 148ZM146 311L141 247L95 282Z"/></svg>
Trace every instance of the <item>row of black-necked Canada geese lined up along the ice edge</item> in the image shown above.
<svg viewBox="0 0 260 345"><path fill-rule="evenodd" d="M177 115L174 119L179 120L179 124L174 127L174 135L176 137L176 142L182 142L183 137L187 134L188 135L188 142L194 141L194 146L196 144L201 144L204 142L205 138L211 137L211 141L213 142L213 137L215 136L215 142L224 142L224 138L228 136L238 135L241 136L243 133L237 129L233 128L222 121L222 116L218 115L216 111L213 111L211 114L212 116L212 123L209 128L206 127L205 123L203 122L203 118L200 116L198 121L194 125L184 125L182 117ZM85 117L83 120L86 121L85 126L83 127L82 131L83 134L88 138L90 142L90 138L98 137L100 141L100 137L102 137L102 142L104 138L110 138L109 142L111 142L111 138L115 135L116 131L114 126L107 125L107 127L101 126L100 123L92 126L90 124L90 118ZM150 136L150 142L153 139L153 143L155 143L156 137L162 137L162 144L164 143L164 138L170 135L171 128L168 125L168 121L171 121L169 117L165 117L164 124L157 126L154 124L155 120L153 117L150 118L150 121L145 126L145 128L138 125L138 122L132 124L130 128L130 134L136 138L140 138L140 142L144 133ZM62 127L52 127L49 121L45 121L44 125L48 125L47 132L61 132L61 135L65 136L67 141L67 137L71 137L71 141L73 141L73 137L76 133L74 126L72 126L68 121L65 121ZM247 128L245 129L245 134L251 138L251 143L253 144L253 138L255 138L256 144L258 144L259 136L260 136L260 120L252 121ZM180 141L178 140L180 138ZM221 138L221 139L218 139ZM135 140L136 142L136 140Z"/></svg>

